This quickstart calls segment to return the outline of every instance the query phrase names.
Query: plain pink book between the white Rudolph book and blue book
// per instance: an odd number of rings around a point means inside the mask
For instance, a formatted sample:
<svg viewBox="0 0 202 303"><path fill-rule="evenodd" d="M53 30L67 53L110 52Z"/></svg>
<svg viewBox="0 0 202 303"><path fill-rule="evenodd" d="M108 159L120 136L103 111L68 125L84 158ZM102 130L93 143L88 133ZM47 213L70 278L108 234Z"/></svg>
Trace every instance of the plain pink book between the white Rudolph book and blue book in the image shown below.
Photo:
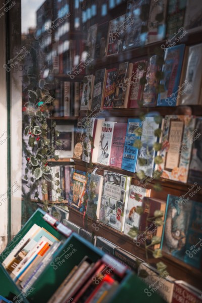
<svg viewBox="0 0 202 303"><path fill-rule="evenodd" d="M116 123L112 139L110 166L121 168L127 123Z"/></svg>

